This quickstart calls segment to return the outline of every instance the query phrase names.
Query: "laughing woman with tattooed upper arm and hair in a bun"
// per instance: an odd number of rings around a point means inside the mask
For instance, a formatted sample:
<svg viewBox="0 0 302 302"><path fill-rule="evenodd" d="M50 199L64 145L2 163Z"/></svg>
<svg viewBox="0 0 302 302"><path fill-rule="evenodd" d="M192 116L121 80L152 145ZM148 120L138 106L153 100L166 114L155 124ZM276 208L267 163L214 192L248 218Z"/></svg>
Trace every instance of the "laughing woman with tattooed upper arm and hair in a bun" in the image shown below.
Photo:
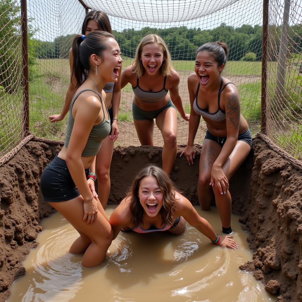
<svg viewBox="0 0 302 302"><path fill-rule="evenodd" d="M240 114L236 86L221 76L227 54L227 45L219 41L206 43L197 50L195 72L188 77L191 103L188 144L180 156L185 154L188 164L193 164L194 138L202 116L207 133L199 161L198 199L202 210L210 210L215 198L223 233L230 234L229 179L251 151L252 136Z"/></svg>

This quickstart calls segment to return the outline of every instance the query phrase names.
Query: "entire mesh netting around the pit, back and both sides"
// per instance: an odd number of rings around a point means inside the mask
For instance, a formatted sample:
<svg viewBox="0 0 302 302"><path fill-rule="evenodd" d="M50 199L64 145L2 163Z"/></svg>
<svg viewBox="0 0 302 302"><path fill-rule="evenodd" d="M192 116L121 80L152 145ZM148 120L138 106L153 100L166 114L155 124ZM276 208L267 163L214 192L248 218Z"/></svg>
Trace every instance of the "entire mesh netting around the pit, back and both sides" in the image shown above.
<svg viewBox="0 0 302 302"><path fill-rule="evenodd" d="M4 0L13 7L20 3ZM289 0L286 0L289 1ZM94 0L81 1L89 9L102 10L110 18L114 36L123 53L123 68L132 63L140 39L149 33L161 36L180 75L179 93L186 113L190 112L188 75L194 72L195 51L208 41L223 41L230 53L223 76L239 90L241 113L253 136L260 130L262 1L184 1L184 0ZM59 114L69 85L68 53L74 34L81 32L85 8L79 1L28 0L30 56L30 132L37 137L64 140L67 117L50 123L48 116ZM269 2L268 68L267 68L267 135L281 149L301 159L301 74L299 73L302 36L301 0L291 1L288 25L283 26L287 2ZM0 5L0 14L4 14ZM20 17L20 11L16 13ZM12 19L10 17L9 19ZM1 18L2 22L2 18ZM286 22L285 22L286 23ZM5 23L1 24L5 27ZM0 29L0 32L3 31ZM2 32L1 32L2 33ZM8 82L15 87L1 88L0 156L23 138L21 32L19 25L9 31L11 43L3 48L0 64L8 66ZM10 40L6 39L5 41ZM2 40L3 41L3 40ZM281 47L283 45L283 47ZM8 52L8 50L10 52ZM280 51L279 51L280 50ZM10 53L13 61L9 61ZM15 72L11 72L15 70ZM6 87L1 78L1 86ZM8 85L9 86L9 85ZM9 87L10 87L9 86ZM116 144L140 145L133 124L130 84L121 91L119 110L120 134ZM9 114L8 114L9 112ZM20 117L20 118L19 118ZM201 121L195 143L202 143L206 125ZM188 122L178 114L178 144L188 140ZM155 125L154 143L163 145Z"/></svg>

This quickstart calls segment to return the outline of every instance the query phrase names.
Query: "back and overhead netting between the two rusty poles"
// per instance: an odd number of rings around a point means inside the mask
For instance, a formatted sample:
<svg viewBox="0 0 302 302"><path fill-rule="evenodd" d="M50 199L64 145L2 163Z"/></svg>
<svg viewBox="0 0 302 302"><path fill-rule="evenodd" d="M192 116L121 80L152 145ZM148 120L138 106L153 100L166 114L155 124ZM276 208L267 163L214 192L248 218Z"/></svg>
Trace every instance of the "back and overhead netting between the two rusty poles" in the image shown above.
<svg viewBox="0 0 302 302"><path fill-rule="evenodd" d="M223 76L239 89L242 113L253 134L260 125L262 1L87 1L89 9L105 11L120 45L123 68L129 66L141 38L149 33L161 36L180 75L179 93L190 113L188 75L194 72L195 53L208 41L224 41L230 47ZM236 13L235 13L236 12ZM81 33L85 9L77 1L28 2L28 17L35 32L36 75L30 81L30 130L37 137L64 140L67 118L50 123L59 114L69 85L69 49L72 36ZM121 91L118 145L140 145L132 117L132 87ZM178 114L178 144L187 143L188 122ZM203 121L195 143L202 143ZM162 134L154 128L154 144L163 145Z"/></svg>

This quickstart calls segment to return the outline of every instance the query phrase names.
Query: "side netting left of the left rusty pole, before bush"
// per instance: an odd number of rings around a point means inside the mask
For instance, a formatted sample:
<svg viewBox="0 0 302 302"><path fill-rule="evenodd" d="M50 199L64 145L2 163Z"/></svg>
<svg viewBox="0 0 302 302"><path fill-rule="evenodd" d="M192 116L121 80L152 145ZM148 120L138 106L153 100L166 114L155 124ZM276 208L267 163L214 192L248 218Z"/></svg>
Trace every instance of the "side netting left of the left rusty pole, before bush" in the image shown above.
<svg viewBox="0 0 302 302"><path fill-rule="evenodd" d="M19 7L20 1L0 2L0 157L24 138Z"/></svg>

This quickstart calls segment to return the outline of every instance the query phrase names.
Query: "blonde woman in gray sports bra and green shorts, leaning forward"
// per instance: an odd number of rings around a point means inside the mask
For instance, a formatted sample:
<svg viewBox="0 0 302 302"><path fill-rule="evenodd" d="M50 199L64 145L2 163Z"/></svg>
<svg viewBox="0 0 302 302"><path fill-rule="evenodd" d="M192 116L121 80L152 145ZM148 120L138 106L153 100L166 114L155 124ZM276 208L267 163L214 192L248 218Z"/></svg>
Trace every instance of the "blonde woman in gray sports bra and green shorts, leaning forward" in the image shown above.
<svg viewBox="0 0 302 302"><path fill-rule="evenodd" d="M132 65L122 72L121 88L130 83L132 114L141 145L154 146L154 119L162 132L162 169L169 175L177 153L177 114L189 120L178 92L179 75L172 69L165 42L155 34L140 41ZM170 95L168 94L170 92Z"/></svg>

